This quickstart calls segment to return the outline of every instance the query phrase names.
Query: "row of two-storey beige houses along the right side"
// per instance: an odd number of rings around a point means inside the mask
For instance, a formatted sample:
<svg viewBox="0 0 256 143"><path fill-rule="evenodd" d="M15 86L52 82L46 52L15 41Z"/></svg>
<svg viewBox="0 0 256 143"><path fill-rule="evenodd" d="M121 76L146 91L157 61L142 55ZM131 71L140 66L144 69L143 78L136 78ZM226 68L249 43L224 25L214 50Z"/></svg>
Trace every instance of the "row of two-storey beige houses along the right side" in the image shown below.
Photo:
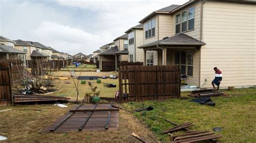
<svg viewBox="0 0 256 143"><path fill-rule="evenodd" d="M191 0L152 11L139 25L93 52L99 61L179 65L185 82L211 87L213 67L223 87L256 85L255 1Z"/></svg>

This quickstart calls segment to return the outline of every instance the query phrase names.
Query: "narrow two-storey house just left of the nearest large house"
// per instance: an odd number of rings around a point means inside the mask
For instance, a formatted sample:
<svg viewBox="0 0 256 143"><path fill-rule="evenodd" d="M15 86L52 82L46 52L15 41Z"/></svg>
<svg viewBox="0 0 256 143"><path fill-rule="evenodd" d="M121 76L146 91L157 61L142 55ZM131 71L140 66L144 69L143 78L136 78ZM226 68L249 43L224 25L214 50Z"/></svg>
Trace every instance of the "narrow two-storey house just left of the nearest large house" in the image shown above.
<svg viewBox="0 0 256 143"><path fill-rule="evenodd" d="M143 45L143 24L139 24L125 31L128 34L128 61L144 62L143 49L137 47Z"/></svg>

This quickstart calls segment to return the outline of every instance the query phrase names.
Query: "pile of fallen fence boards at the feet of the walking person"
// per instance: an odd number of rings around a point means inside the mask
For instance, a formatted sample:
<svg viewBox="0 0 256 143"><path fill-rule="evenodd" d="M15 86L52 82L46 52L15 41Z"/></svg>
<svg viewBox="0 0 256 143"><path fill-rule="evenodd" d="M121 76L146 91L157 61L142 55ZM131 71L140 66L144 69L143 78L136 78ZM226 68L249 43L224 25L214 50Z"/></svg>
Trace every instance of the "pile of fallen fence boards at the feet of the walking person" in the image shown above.
<svg viewBox="0 0 256 143"><path fill-rule="evenodd" d="M216 91L214 89L204 89L204 90L194 90L187 96L201 98L201 97L229 96L229 95L226 95L224 92Z"/></svg>

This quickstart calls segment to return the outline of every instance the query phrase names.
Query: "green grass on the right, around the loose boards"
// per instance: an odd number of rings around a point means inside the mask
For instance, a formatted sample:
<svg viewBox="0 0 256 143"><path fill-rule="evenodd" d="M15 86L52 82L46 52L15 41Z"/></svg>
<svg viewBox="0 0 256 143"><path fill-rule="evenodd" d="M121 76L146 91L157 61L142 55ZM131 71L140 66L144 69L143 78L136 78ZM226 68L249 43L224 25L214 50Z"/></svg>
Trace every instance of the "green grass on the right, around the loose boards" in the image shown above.
<svg viewBox="0 0 256 143"><path fill-rule="evenodd" d="M235 89L226 91L232 97L212 97L215 106L200 105L190 102L190 99L168 99L166 101L146 101L143 103L130 102L124 106L134 116L150 127L163 142L170 141L169 135L160 134L173 125L164 119L178 124L191 122L193 130L212 131L214 127L223 130L217 134L223 135L220 141L224 142L254 142L256 140L256 88ZM183 96L186 95L183 92ZM134 112L137 108L153 106L152 111ZM174 133L175 134L175 133Z"/></svg>

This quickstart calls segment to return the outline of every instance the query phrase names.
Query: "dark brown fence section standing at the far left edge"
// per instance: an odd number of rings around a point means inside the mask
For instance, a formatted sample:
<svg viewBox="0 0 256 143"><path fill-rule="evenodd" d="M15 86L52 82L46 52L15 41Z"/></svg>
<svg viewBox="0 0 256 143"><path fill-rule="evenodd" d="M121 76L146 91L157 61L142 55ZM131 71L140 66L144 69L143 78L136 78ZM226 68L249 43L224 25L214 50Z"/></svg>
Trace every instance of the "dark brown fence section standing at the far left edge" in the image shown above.
<svg viewBox="0 0 256 143"><path fill-rule="evenodd" d="M0 68L0 105L12 103L12 82L10 67Z"/></svg>

